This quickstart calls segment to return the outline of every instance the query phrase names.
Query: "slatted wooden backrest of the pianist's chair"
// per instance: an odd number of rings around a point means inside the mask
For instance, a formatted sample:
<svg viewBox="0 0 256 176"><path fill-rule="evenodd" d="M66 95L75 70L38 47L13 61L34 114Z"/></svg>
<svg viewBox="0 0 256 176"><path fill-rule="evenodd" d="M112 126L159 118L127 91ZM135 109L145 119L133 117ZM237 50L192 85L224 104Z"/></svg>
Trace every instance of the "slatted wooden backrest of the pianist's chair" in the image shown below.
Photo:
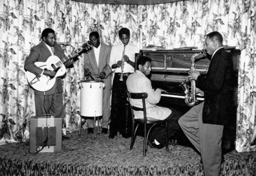
<svg viewBox="0 0 256 176"><path fill-rule="evenodd" d="M145 103L145 99L147 98L147 93L146 92L131 93L131 92L127 91L127 96L128 96L128 101L129 101L131 110L132 110L133 118L134 118L133 111L143 111L143 118L144 118L144 121L146 121L146 103ZM130 102L130 99L141 99L142 100L142 108L133 106Z"/></svg>

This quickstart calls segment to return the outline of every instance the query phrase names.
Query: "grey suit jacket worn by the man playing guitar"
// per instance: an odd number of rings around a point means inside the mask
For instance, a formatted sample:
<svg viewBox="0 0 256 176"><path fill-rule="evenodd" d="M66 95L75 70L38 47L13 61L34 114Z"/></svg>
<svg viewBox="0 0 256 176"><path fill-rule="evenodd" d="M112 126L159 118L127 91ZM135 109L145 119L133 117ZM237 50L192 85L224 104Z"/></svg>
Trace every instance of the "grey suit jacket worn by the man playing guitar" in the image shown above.
<svg viewBox="0 0 256 176"><path fill-rule="evenodd" d="M63 50L60 45L55 44L53 48L56 56L58 56L60 59L65 57L65 54L63 53ZM24 63L25 71L29 71L31 73L34 73L36 76L40 76L40 74L42 73L42 69L36 67L34 63L45 62L51 55L52 54L47 48L45 42L41 41L38 45L31 48L30 55L26 58ZM66 67L68 67L68 65L71 65L71 64L72 62L70 60L65 62ZM55 89L57 89L56 91L59 93L63 92L61 78L59 77L56 78L56 82L52 87L52 89L49 91L46 91L45 95L53 95L55 93ZM44 92L40 92L37 90L34 90L34 93L37 95L44 95Z"/></svg>

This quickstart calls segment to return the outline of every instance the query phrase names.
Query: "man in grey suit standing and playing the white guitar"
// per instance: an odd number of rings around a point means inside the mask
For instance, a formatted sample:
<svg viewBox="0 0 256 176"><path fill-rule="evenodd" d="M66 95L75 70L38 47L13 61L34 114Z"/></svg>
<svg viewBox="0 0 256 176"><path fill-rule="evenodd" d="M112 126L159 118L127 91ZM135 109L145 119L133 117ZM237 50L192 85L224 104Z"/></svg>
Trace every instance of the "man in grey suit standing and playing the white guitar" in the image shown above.
<svg viewBox="0 0 256 176"><path fill-rule="evenodd" d="M42 31L41 39L42 41L38 45L31 48L30 55L25 60L24 69L25 71L33 73L37 79L44 76L53 78L57 72L56 70L42 69L35 63L51 61L51 56L57 56L61 59L65 57L65 54L63 53L61 46L56 44L56 35L53 29L47 28ZM78 54L76 54L76 56L77 55ZM64 65L65 67L70 67L73 63L73 59L70 59L66 61ZM41 87L44 86L46 85L41 85ZM65 114L62 93L63 89L60 77L56 78L55 83L50 90L39 91L35 89L36 116L50 114L53 116L61 116L63 119ZM67 139L67 137L62 137L62 139Z"/></svg>

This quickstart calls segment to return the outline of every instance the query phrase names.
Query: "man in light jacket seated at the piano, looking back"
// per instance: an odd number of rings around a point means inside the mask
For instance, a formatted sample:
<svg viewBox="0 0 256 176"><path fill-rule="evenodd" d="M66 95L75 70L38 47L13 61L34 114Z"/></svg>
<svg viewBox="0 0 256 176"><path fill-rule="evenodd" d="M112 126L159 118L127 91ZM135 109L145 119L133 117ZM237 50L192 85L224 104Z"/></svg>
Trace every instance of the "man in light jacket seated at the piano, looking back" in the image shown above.
<svg viewBox="0 0 256 176"><path fill-rule="evenodd" d="M151 74L151 59L145 56L140 56L137 60L137 70L135 73L128 76L126 85L127 90L131 93L147 93L145 100L146 112L148 117L152 117L158 120L171 119L168 123L168 137L172 137L175 132L180 128L178 124L179 118L183 113L177 111L175 108L167 108L158 106L157 103L161 99L161 92L165 92L162 89L154 90L151 85L151 80L147 78ZM142 107L141 100L131 100L133 106ZM134 112L135 118L139 117L139 112ZM163 148L165 146L165 129L164 126L157 125L151 133L151 139L148 140L148 144L154 148Z"/></svg>

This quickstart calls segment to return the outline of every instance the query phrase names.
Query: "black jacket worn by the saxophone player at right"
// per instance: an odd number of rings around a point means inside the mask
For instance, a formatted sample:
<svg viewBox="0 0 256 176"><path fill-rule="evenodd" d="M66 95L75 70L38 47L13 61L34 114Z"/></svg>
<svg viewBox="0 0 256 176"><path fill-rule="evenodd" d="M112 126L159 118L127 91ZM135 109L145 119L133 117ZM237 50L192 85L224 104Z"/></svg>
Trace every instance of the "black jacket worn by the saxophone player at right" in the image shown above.
<svg viewBox="0 0 256 176"><path fill-rule="evenodd" d="M196 86L204 91L203 123L228 123L233 98L233 62L224 48L211 59L206 77L200 75Z"/></svg>

